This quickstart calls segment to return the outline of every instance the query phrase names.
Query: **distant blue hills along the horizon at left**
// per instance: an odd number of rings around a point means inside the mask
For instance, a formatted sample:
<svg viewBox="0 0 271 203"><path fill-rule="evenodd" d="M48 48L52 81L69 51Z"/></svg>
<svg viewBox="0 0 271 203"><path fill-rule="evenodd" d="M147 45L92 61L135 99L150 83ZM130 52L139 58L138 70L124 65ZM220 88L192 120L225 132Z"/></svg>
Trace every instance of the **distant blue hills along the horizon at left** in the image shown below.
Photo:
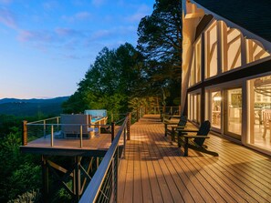
<svg viewBox="0 0 271 203"><path fill-rule="evenodd" d="M0 99L0 114L32 117L37 114L59 115L62 112L62 103L69 96L61 96L50 99Z"/></svg>

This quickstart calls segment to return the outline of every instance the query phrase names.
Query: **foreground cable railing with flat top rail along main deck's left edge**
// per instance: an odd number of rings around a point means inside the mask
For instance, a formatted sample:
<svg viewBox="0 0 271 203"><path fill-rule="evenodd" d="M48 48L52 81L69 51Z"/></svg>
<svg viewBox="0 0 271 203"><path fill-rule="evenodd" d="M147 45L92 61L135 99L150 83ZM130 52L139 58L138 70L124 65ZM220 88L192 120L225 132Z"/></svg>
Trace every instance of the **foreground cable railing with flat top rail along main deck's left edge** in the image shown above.
<svg viewBox="0 0 271 203"><path fill-rule="evenodd" d="M122 146L120 146L121 137L123 137ZM118 166L120 157L125 157L126 139L130 139L130 114L125 118L108 152L103 157L98 170L80 198L80 203L117 202Z"/></svg>

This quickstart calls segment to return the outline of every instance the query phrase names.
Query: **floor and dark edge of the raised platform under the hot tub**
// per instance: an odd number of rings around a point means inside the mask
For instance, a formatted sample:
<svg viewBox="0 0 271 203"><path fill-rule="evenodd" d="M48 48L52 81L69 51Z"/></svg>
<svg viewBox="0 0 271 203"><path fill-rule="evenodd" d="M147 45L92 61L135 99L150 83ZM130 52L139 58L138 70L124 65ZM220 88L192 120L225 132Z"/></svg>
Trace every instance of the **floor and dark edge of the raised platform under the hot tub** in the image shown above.
<svg viewBox="0 0 271 203"><path fill-rule="evenodd" d="M103 157L111 145L111 134L100 134L92 138L83 138L82 147L80 147L79 138L54 138L53 147L51 147L51 138L37 138L26 146L21 146L21 151L57 156L99 156Z"/></svg>

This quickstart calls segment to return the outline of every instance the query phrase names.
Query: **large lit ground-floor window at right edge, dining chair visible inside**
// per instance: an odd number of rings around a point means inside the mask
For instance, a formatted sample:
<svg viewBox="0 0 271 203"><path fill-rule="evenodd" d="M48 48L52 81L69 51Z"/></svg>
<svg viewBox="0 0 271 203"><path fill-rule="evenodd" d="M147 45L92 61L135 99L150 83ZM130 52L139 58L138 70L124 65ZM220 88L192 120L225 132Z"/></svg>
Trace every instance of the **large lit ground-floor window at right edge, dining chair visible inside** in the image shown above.
<svg viewBox="0 0 271 203"><path fill-rule="evenodd" d="M271 76L248 82L249 143L271 150Z"/></svg>

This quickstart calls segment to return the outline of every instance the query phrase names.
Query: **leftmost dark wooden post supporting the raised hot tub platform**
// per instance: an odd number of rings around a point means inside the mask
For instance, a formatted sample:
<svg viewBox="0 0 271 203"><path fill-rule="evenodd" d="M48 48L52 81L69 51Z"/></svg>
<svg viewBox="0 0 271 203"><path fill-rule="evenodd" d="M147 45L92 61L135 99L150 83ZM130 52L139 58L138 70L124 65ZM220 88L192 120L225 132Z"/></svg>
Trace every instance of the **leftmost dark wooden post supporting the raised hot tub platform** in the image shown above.
<svg viewBox="0 0 271 203"><path fill-rule="evenodd" d="M47 157L41 156L42 162L42 184L43 184L43 200L44 202L48 202L48 194L49 194L49 170L47 167Z"/></svg>

